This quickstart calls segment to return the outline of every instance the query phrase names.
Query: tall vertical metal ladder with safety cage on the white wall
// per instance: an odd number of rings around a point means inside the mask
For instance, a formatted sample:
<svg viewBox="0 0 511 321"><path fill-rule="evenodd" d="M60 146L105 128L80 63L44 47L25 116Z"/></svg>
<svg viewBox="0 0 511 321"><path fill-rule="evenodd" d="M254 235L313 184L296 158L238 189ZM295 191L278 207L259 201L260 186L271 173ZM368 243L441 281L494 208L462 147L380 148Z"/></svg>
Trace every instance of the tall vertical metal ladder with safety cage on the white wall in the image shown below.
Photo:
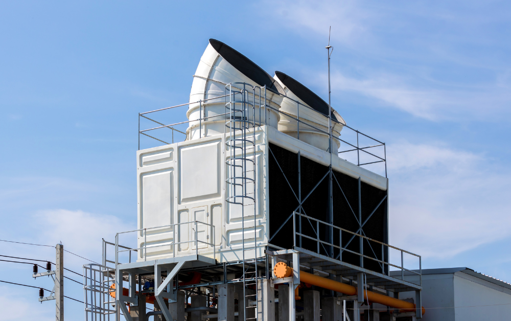
<svg viewBox="0 0 511 321"><path fill-rule="evenodd" d="M257 224L256 210L256 161L255 161L255 109L259 107L259 122L261 125L261 88L252 87L247 83L230 83L226 91L226 139L228 151L226 159L226 202L230 211L241 210L242 223L242 268L243 268L243 297L238 300L238 310L244 309L244 321L257 320ZM256 91L259 96L256 97ZM251 131L251 132L250 132ZM245 234L246 218L253 215L254 244L247 246ZM247 259L245 252L253 250L254 258ZM248 279L248 281L247 281ZM255 294L247 294L247 286L255 285ZM241 293L240 293L241 294ZM250 305L249 302L255 302ZM247 318L247 309L255 309L254 316Z"/></svg>

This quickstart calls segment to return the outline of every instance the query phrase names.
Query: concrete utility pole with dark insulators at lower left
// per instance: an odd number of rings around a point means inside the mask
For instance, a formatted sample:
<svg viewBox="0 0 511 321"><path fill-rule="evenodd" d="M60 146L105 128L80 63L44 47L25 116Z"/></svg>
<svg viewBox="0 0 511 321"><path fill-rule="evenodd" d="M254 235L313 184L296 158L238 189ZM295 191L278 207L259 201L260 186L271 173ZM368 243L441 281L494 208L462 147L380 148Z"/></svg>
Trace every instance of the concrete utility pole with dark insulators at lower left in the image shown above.
<svg viewBox="0 0 511 321"><path fill-rule="evenodd" d="M37 272L37 266L34 265L34 274L32 277L44 277L51 276L55 285L53 286L52 293L50 296L43 297L43 290L40 290L39 294L39 302L55 300L55 320L56 321L64 321L64 246L62 244L57 244L55 246L56 249L56 261L55 261L55 270L51 270L51 263L47 264L46 272ZM54 277L55 274L55 277Z"/></svg>

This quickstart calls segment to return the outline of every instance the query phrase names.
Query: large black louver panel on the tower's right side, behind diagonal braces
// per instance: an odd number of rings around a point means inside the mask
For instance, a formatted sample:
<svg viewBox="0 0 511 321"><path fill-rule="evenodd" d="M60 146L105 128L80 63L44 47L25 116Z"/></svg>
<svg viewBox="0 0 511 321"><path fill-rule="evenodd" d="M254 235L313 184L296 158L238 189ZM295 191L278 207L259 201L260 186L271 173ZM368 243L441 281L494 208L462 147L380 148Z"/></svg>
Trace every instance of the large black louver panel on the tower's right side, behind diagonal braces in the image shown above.
<svg viewBox="0 0 511 321"><path fill-rule="evenodd" d="M271 150L268 155L269 243L283 248L292 248L293 220L291 218L286 224L283 225L283 223L291 216L293 211L298 208L298 154L273 144L270 144L269 147ZM321 221L328 222L329 175L323 178L328 174L328 166L318 164L302 156L300 157L300 172L301 199L305 199L303 203L303 213ZM334 171L333 176L333 224L357 233L359 228L357 222L359 215L358 179L336 171ZM316 188L314 189L314 187ZM362 222L364 222L385 197L387 192L365 184L364 182L361 182L360 190ZM388 243L386 202L387 200L385 199L363 227L365 236L384 243ZM300 228L300 226L297 223L297 230L298 228ZM307 236L316 238L316 228L315 221L308 221L307 219L301 221L301 233ZM320 224L319 238L323 241L328 241L330 239L329 233L329 228ZM349 233L342 234L342 244L344 247L350 242L352 236L353 235ZM337 231L334 231L333 239L334 244L337 245L339 240L339 233ZM299 244L299 242L300 240L297 238L296 244ZM381 245L376 242L370 243L369 245L369 243L364 240L364 255L381 260ZM317 242L306 238L301 238L301 247L316 252L318 251ZM346 248L360 253L359 238L353 238ZM326 246L320 245L319 247L319 253L322 255L329 255L330 251L331 249ZM334 258L339 257L338 249L333 250L333 256ZM387 249L384 249L383 259L388 262ZM344 251L342 253L342 261L359 266L360 256ZM364 259L364 267L378 272L382 271L381 265L370 259ZM385 268L385 273L388 273L387 267Z"/></svg>

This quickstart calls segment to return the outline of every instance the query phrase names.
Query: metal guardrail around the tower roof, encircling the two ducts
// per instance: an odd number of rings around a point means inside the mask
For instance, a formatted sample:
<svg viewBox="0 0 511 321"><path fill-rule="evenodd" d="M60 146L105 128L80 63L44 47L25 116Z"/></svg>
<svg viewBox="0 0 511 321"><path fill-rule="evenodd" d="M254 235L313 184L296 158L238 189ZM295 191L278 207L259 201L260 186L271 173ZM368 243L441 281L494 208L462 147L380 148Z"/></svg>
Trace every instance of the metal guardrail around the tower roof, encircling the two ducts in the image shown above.
<svg viewBox="0 0 511 321"><path fill-rule="evenodd" d="M241 84L241 83L236 83L236 84ZM233 84L228 84L228 85L233 85ZM271 109L275 112L278 112L280 114L284 114L286 115L288 118L296 121L296 125L297 125L297 138L299 139L300 137L300 126L302 128L302 130L305 130L305 128L309 128L309 129L314 129L320 133L323 133L323 134L327 134L330 136L330 140L332 140L332 125L330 125L331 128L328 128L328 131L326 130L323 130L321 128L317 128L307 122L304 122L303 120L300 120L299 119L299 115L300 115L300 108L303 109L303 108L307 108L307 109L310 109L310 110L313 110L314 112L316 113L319 113L317 110L307 106L307 105L304 105L303 103L300 103L299 101L297 100L294 100L294 99L291 99L281 93L278 93L277 91L274 91L270 88L267 88L266 86L264 87L259 87L259 86L251 86L250 84L246 84L246 85L249 85L251 87L251 91L252 93L250 93L251 95L253 95L254 97L255 96L258 96L260 100L263 100L265 101L265 123L263 124L261 122L262 120L262 115L260 114L259 116L259 122L255 122L254 120L254 123L255 125L259 125L259 126L262 126L262 125L266 125L266 110L268 109ZM233 86L234 87L234 86ZM246 89L240 89L240 90L246 90ZM259 90L259 92L258 92ZM296 117L293 116L292 114L290 113L287 113L287 112L284 112L284 111L281 111L279 110L278 108L274 108L272 106L270 106L270 104L268 103L268 99L266 98L266 91L269 90L271 91L271 93L273 95L278 95L278 96L282 96L282 97L285 97L286 99L296 103L296 110L297 110L297 114L296 114ZM228 114L228 112L226 113L221 113L221 114L215 114L213 116L208 116L208 117L203 117L204 115L204 108L206 106L204 106L204 103L207 103L207 102L210 102L212 100L216 100L216 99L219 99L219 98L226 98L226 97L229 97L230 95L234 95L234 94L226 94L226 95L221 95L221 96L217 96L217 97L213 97L213 98L208 98L208 99L204 99L204 100L199 100L199 101L195 101L195 102L189 102L189 103L184 103L184 104L180 104L180 105L175 105L175 106L170 106L170 107L165 107L165 108L160 108L160 109L156 109L156 110L151 110L151 111L146 111L146 112L142 112L142 113L139 113L138 114L138 150L140 150L140 138L141 138L141 135L144 135L144 136L147 136L147 137L150 137L151 139L154 139L158 142L161 142L161 143L164 143L166 145L169 145L169 144L173 144L174 143L174 132L177 132L177 133L180 133L180 134L183 134L184 136L187 135L187 133L185 131L181 131L181 130L178 130L176 129L175 127L176 126L179 126L179 125L183 125L183 124L189 124L191 122L198 122L199 123L199 137L202 137L202 132L201 132L201 123L202 121L205 121L205 120L209 120L209 119L215 119L215 118L219 118L219 117L222 117L222 116L225 116L226 114ZM264 99L263 99L263 96L264 96ZM225 103L227 103L228 100L225 99ZM192 104L198 104L199 105L199 119L194 119L194 120L186 120L186 121L182 121L182 122L177 122L177 123L173 123L173 124L169 124L169 125L165 125L164 123L161 123L161 122L158 122L152 118L149 118L147 116L147 114L149 113L154 113L154 112L161 112L161 111L164 111L164 110L170 110L170 109L173 109L173 108L178 108L178 107L187 107L189 105L192 105ZM253 107L253 106L252 106ZM184 113L183 113L184 114ZM321 113L322 114L322 113ZM326 118L329 118L328 115L325 115L325 114L322 114L324 117ZM151 122L154 122L160 126L157 126L157 127L152 127L152 128L147 128L147 129L142 129L141 130L141 125L140 125L140 121L141 119L147 119ZM356 165L357 166L364 166L364 165L369 165L369 164L377 164L377 163L384 163L384 166L385 166L385 177L387 177L387 161L386 161L386 146L385 146L385 143L377 140L377 139L374 139L373 137L367 135L367 134L364 134L362 132L360 132L359 130L357 129L354 129L348 125L346 125L345 123L341 123L335 119L331 119L331 122L332 123L336 123L336 124L339 124L339 125L342 125L343 128L347 128L349 130L351 130L352 132L354 132L356 134L356 142L348 142L344 139L342 139L341 137L335 137L335 139L338 139L339 142L345 144L345 146L347 146L347 149L339 149L337 151L337 154L344 154L344 153L349 153L349 152L357 152L357 163ZM300 125L301 124L301 125ZM161 128L169 128L172 130L172 143L168 143L166 141L164 141L163 139L160 139L158 137L154 137L152 135L149 135L148 132L150 131L153 131L153 130L157 130L157 129L161 129ZM368 145L365 145L365 144L361 144L360 143L360 137L363 136L363 137L366 137L367 139L369 139L371 142L374 142L374 143L371 143L371 144L368 144ZM184 141L185 137L183 138L183 140L179 140L180 142L181 141ZM376 152L373 152L373 149L375 148L378 148L378 147L383 147L383 156L378 156L376 155ZM361 155L368 155L370 157L373 157L373 159L375 159L375 161L373 162L365 162L365 163L361 163Z"/></svg>

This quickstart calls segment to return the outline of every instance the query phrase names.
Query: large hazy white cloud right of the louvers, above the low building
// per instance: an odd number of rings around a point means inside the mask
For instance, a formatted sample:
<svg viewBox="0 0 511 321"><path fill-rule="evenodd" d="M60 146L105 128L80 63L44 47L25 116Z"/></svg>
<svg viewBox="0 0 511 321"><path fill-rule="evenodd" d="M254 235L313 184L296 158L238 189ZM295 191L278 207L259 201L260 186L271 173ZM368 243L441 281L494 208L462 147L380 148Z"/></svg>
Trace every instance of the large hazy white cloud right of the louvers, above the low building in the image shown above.
<svg viewBox="0 0 511 321"><path fill-rule="evenodd" d="M467 151L388 145L391 242L447 258L511 235L511 174Z"/></svg>

